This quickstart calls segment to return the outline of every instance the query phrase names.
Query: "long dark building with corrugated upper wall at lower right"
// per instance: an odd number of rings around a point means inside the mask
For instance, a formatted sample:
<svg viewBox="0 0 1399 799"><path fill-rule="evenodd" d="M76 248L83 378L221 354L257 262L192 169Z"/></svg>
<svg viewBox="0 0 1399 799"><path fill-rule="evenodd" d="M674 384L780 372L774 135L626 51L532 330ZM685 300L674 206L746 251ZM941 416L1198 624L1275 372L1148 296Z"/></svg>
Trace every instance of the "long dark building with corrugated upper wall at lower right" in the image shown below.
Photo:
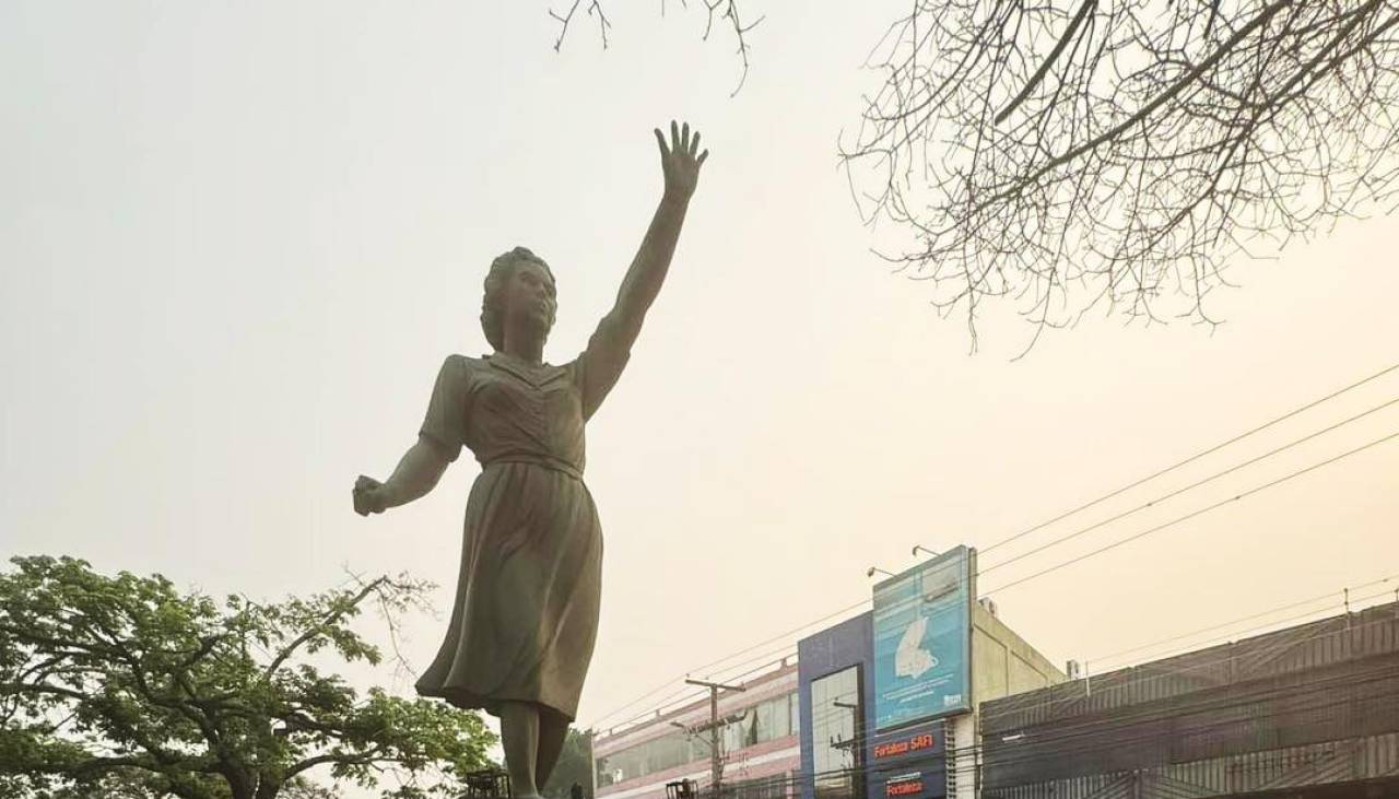
<svg viewBox="0 0 1399 799"><path fill-rule="evenodd" d="M1399 603L982 708L988 799L1399 796Z"/></svg>

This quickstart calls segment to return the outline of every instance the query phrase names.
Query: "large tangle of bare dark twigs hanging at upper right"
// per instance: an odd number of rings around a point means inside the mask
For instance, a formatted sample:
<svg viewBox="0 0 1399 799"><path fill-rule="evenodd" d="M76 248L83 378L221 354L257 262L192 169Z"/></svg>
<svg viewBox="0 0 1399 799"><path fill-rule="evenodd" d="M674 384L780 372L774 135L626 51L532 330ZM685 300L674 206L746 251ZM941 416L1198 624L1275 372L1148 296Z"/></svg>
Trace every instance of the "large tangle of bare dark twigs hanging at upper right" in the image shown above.
<svg viewBox="0 0 1399 799"><path fill-rule="evenodd" d="M1392 210L1396 0L916 0L841 158L944 313L1216 323L1235 255Z"/></svg>

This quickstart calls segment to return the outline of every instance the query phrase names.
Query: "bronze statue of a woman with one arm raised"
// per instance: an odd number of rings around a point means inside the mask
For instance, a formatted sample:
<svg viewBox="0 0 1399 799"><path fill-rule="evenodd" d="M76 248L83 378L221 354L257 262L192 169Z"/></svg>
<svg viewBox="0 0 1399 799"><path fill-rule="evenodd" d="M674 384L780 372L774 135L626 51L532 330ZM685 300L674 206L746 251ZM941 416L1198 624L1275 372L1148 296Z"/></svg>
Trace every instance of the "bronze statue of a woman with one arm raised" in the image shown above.
<svg viewBox="0 0 1399 799"><path fill-rule="evenodd" d="M655 133L665 193L588 348L567 365L546 364L554 276L525 248L497 257L481 302L495 351L449 355L418 441L393 476L361 476L354 486L355 512L379 514L431 491L462 446L481 462L466 502L452 623L417 690L499 716L522 799L539 796L558 760L597 632L603 539L582 479L583 423L627 365L709 155L688 125L670 123L669 146Z"/></svg>

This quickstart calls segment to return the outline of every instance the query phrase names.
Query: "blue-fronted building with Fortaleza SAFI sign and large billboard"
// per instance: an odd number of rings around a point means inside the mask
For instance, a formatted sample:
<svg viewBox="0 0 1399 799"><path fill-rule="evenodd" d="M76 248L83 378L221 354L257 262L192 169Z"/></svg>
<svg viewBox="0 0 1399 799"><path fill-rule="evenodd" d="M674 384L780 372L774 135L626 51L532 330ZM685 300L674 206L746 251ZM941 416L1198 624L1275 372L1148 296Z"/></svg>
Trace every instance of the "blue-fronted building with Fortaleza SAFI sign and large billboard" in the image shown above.
<svg viewBox="0 0 1399 799"><path fill-rule="evenodd" d="M802 799L978 795L981 702L1066 676L978 602L958 547L797 644Z"/></svg>

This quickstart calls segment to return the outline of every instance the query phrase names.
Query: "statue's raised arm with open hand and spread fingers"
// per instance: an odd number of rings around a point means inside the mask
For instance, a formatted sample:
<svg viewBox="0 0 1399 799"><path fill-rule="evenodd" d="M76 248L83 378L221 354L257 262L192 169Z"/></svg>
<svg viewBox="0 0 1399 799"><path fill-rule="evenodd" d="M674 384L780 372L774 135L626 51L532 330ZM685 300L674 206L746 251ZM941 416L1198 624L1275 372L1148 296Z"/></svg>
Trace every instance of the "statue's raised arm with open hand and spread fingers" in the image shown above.
<svg viewBox="0 0 1399 799"><path fill-rule="evenodd" d="M665 192L660 204L651 218L651 227L641 239L641 248L632 257L627 276L617 291L617 302L597 325L597 332L588 341L588 350L579 358L583 365L583 414L592 416L603 397L617 382L627 364L628 353L646 311L660 294L660 285L676 253L680 228L690 208L690 197L700 182L700 167L709 151L700 150L700 133L690 130L690 123L670 123L670 143L660 129L655 130L656 146L660 148L660 169L665 175Z"/></svg>

